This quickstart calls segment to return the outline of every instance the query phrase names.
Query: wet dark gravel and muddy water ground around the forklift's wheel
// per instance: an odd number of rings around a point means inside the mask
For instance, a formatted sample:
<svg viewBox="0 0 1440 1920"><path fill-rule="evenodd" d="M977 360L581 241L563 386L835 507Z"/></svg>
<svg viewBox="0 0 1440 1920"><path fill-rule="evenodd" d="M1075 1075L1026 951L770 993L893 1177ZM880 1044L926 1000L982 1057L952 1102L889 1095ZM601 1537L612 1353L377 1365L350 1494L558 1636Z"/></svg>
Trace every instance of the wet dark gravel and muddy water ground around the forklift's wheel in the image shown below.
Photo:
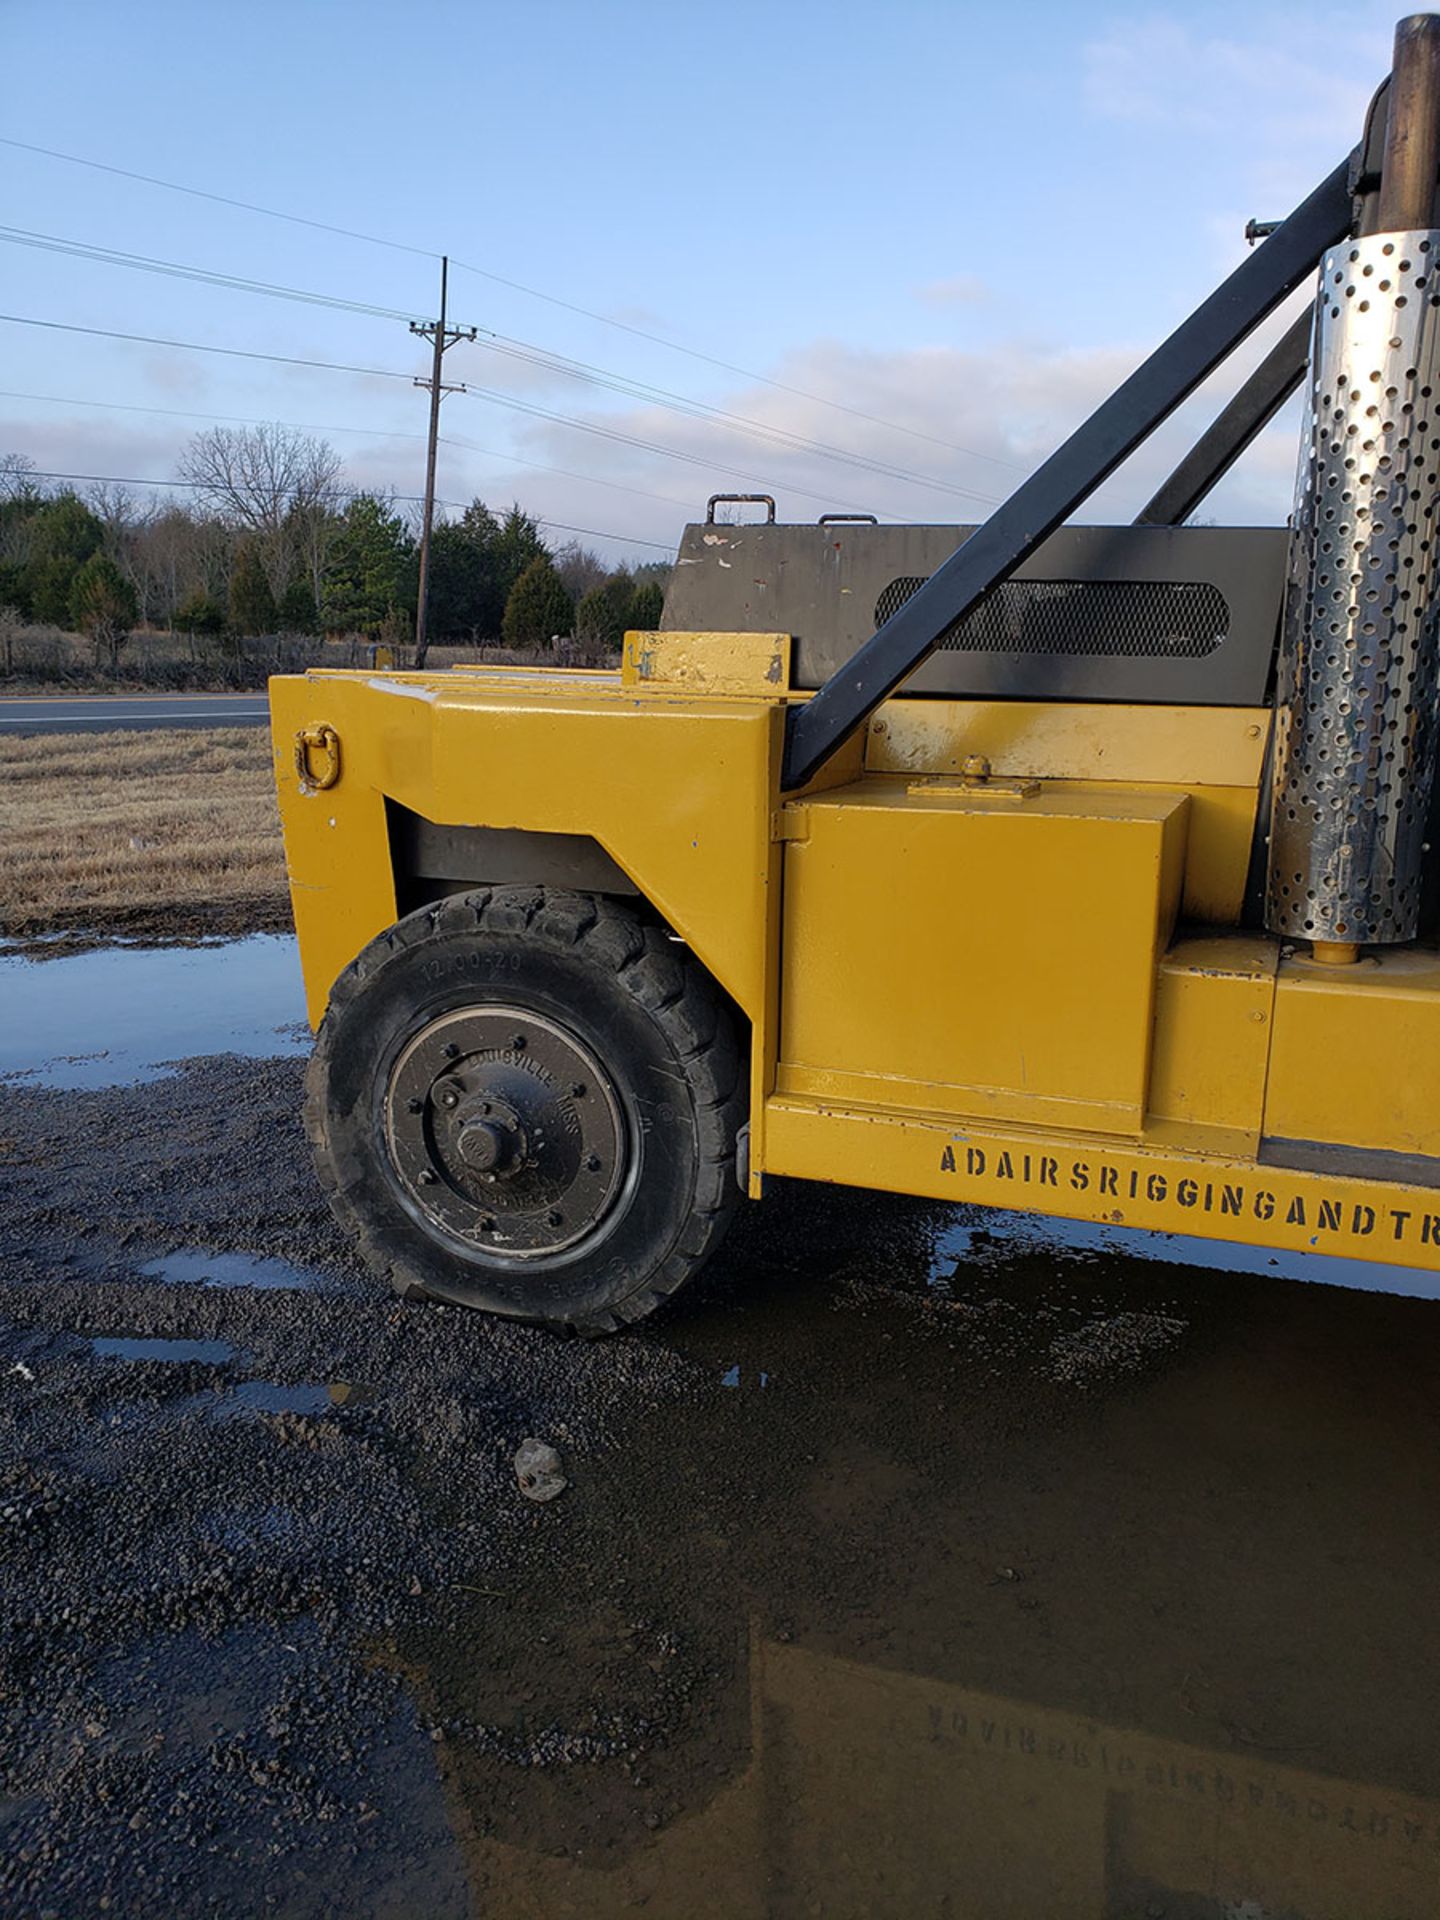
<svg viewBox="0 0 1440 1920"><path fill-rule="evenodd" d="M2 1912L1440 1908L1438 1304L781 1187L557 1340L152 1025L0 1085Z"/></svg>

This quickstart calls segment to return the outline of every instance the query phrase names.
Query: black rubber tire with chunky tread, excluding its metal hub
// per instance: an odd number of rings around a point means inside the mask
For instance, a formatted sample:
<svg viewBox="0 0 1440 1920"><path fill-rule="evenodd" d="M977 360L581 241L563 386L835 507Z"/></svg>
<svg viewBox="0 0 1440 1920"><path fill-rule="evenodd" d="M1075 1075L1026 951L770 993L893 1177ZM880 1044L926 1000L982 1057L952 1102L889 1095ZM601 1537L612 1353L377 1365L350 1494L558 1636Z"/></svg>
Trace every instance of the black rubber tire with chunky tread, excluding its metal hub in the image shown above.
<svg viewBox="0 0 1440 1920"><path fill-rule="evenodd" d="M628 1114L626 1190L570 1254L459 1248L405 1204L390 1160L392 1064L430 1020L488 1000L563 1021ZM305 1079L305 1131L336 1219L403 1298L597 1334L653 1311L720 1244L741 1102L733 1014L676 941L603 897L493 887L411 914L346 968Z"/></svg>

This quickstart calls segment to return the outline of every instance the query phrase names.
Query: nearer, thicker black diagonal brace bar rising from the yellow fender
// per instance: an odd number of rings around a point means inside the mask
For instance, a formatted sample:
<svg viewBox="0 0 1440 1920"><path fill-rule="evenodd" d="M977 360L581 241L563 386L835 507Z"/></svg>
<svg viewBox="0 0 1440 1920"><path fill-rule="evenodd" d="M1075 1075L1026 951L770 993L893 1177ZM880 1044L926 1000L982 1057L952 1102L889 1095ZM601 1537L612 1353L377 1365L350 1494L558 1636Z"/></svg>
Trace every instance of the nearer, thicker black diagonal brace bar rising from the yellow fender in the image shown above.
<svg viewBox="0 0 1440 1920"><path fill-rule="evenodd" d="M941 634L1008 580L1127 453L1313 273L1350 232L1350 161L1235 269L1085 426L874 634L814 699L787 716L783 785L804 785L829 755L933 651Z"/></svg>

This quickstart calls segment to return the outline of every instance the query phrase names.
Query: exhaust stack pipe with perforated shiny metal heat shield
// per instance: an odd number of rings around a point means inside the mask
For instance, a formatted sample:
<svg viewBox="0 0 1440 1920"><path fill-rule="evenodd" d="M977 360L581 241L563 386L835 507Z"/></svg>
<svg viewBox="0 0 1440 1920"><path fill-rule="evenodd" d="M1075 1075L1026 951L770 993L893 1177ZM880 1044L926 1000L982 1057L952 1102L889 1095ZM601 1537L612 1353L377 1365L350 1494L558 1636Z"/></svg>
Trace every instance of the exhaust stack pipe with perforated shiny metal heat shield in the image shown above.
<svg viewBox="0 0 1440 1920"><path fill-rule="evenodd" d="M1271 803L1271 933L1415 939L1440 741L1440 17L1396 27L1377 227L1321 261Z"/></svg>

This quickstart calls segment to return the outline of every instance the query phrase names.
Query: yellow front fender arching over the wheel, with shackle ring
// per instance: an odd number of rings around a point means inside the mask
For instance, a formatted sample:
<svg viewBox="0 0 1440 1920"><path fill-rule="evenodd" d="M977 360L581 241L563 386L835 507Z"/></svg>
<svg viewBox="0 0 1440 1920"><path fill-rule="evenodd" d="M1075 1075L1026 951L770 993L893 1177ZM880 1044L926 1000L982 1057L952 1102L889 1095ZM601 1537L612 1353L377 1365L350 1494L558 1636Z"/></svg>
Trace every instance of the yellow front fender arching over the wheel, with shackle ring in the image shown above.
<svg viewBox="0 0 1440 1920"><path fill-rule="evenodd" d="M396 918L386 797L438 826L593 835L764 1023L778 707L636 699L614 674L311 672L273 680L271 712L315 1023L334 977ZM321 724L346 776L305 793L288 741Z"/></svg>

